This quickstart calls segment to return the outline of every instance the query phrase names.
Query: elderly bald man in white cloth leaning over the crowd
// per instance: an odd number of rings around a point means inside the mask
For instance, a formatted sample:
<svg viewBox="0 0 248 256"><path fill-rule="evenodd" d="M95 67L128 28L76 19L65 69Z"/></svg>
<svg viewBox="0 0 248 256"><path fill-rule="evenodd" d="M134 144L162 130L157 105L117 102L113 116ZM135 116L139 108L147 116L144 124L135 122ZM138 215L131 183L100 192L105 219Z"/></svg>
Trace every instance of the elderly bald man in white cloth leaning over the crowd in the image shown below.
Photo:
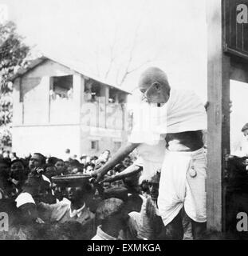
<svg viewBox="0 0 248 256"><path fill-rule="evenodd" d="M141 157L149 158L157 154L155 158L160 158L154 167L150 162L149 170L144 168L144 173L151 172L152 175L160 165L158 206L164 224L164 238L167 238L168 233L172 239L183 238L180 212L184 206L191 218L193 237L198 239L206 229L207 221L207 163L202 132L207 129L206 110L193 92L171 89L167 75L157 67L148 68L141 74L139 89L146 102L144 109L147 109L142 118L136 118L138 121L128 143L109 162L96 170L96 180L100 181L108 170L132 150L146 147L147 150L141 150L141 154L145 152ZM149 107L157 111L155 115L148 114ZM142 124L139 120L146 122ZM143 129L144 123L152 123L152 126L148 130Z"/></svg>

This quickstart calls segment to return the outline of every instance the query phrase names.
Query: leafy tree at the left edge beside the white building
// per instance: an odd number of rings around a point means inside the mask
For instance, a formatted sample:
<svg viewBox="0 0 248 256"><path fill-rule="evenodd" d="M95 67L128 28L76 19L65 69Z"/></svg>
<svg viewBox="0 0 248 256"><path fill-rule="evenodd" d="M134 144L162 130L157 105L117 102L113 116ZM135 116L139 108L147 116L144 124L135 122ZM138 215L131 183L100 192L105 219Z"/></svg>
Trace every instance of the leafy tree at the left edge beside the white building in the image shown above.
<svg viewBox="0 0 248 256"><path fill-rule="evenodd" d="M0 24L0 145L11 146L12 83L10 78L28 64L30 47L17 33L14 22Z"/></svg>

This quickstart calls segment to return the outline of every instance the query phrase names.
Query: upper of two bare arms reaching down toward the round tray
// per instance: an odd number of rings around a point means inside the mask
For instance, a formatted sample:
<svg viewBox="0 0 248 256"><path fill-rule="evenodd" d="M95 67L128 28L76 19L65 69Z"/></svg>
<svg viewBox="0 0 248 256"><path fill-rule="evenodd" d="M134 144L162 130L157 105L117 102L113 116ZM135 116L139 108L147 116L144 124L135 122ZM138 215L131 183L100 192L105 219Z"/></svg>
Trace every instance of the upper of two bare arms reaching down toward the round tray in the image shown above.
<svg viewBox="0 0 248 256"><path fill-rule="evenodd" d="M108 170L111 170L116 164L122 161L128 154L132 152L132 150L136 149L138 143L128 142L124 146L120 147L120 150L116 152L116 154L104 164L99 169L95 170L93 176L96 176L96 182L100 182L100 179L104 176L104 174L108 173Z"/></svg>

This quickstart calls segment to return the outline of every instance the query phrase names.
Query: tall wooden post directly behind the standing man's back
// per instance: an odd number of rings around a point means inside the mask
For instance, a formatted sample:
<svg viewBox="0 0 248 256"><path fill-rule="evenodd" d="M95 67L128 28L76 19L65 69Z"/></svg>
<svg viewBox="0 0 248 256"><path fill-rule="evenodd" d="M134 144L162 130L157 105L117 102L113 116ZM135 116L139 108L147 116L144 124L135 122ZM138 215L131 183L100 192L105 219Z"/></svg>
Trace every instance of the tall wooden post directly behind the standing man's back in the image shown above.
<svg viewBox="0 0 248 256"><path fill-rule="evenodd" d="M207 0L207 227L225 227L223 188L224 157L230 152L230 57L223 53L224 22L222 0Z"/></svg>

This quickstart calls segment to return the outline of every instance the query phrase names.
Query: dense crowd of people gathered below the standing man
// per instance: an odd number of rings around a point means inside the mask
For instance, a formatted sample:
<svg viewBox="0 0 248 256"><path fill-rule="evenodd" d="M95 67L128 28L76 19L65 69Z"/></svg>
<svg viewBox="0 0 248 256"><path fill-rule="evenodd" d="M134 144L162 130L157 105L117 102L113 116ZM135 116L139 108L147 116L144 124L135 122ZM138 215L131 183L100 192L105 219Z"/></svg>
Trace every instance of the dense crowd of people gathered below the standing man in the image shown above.
<svg viewBox="0 0 248 256"><path fill-rule="evenodd" d="M80 160L1 154L0 212L9 215L10 225L2 239L159 239L159 174L140 184L139 166L129 178L121 178L136 162L127 156L102 182L81 181L110 158L109 150ZM75 178L54 182L53 177L63 176Z"/></svg>

